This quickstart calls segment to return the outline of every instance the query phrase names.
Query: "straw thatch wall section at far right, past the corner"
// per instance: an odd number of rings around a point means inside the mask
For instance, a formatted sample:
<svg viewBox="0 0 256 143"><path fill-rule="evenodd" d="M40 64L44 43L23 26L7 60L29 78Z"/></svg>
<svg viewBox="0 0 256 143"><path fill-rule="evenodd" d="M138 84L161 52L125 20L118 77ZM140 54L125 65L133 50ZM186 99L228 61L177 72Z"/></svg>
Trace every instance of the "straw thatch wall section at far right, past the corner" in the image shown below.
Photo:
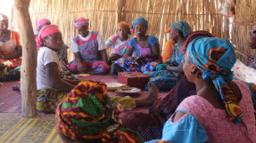
<svg viewBox="0 0 256 143"><path fill-rule="evenodd" d="M235 21L232 25L232 43L236 45L236 56L244 61L255 50L250 48L251 30L256 29L256 0L236 1Z"/></svg>

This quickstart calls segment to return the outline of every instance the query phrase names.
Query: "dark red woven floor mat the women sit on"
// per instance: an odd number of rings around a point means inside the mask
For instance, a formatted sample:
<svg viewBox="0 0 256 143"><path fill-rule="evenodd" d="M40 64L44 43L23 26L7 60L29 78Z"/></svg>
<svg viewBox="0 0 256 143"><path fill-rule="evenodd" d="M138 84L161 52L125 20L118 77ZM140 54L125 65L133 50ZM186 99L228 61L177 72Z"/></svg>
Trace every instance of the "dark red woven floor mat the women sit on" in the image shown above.
<svg viewBox="0 0 256 143"><path fill-rule="evenodd" d="M103 83L117 83L118 76L117 75L89 75L85 77L79 77L80 80L93 80ZM19 91L12 91L12 86L20 86L19 82L6 82L3 83L2 87L0 87L0 112L21 112L21 92ZM118 92L115 91L107 91L109 96L112 97L124 97ZM141 91L136 96L133 96L133 99L144 98L147 95L148 91ZM161 98L166 95L168 91L160 91L158 97ZM122 117L127 112L148 112L149 107L136 107L130 111L125 111L120 114Z"/></svg>

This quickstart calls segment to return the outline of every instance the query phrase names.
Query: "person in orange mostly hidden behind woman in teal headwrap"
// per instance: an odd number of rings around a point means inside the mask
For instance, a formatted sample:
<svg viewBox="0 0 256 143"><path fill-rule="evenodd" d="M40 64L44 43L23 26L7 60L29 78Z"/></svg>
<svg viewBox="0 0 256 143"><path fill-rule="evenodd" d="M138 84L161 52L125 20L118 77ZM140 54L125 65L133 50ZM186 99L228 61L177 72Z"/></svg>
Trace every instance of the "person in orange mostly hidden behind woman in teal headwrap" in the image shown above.
<svg viewBox="0 0 256 143"><path fill-rule="evenodd" d="M165 31L165 33L169 34L169 29L170 28L168 28ZM163 63L169 61L169 58L172 56L174 44L176 44L176 43L172 39L169 39L165 44L163 44L163 49L162 49L162 62Z"/></svg>

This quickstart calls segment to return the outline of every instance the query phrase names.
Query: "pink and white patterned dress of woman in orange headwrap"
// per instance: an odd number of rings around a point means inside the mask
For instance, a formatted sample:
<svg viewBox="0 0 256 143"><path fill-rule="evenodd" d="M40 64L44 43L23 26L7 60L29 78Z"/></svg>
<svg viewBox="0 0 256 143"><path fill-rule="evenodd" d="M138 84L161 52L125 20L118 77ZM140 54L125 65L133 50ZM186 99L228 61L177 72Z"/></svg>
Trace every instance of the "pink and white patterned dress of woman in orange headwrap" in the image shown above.
<svg viewBox="0 0 256 143"><path fill-rule="evenodd" d="M127 45L128 45L131 38L132 38L132 36L128 35L128 40L127 41L120 41L120 35L111 36L106 41L106 45L107 45L107 47L112 48L111 53L117 53L117 54L120 55L120 58L121 58L127 52Z"/></svg>

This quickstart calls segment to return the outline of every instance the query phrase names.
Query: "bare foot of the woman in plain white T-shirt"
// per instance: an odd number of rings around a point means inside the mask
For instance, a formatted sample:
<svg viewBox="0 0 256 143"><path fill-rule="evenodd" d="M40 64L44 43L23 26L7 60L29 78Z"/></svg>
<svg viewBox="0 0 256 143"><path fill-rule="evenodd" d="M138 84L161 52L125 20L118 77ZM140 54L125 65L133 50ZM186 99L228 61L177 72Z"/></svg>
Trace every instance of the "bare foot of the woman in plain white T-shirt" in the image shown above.
<svg viewBox="0 0 256 143"><path fill-rule="evenodd" d="M149 107L158 99L158 88L153 83L148 83L149 90L145 98L135 99L136 107Z"/></svg>

